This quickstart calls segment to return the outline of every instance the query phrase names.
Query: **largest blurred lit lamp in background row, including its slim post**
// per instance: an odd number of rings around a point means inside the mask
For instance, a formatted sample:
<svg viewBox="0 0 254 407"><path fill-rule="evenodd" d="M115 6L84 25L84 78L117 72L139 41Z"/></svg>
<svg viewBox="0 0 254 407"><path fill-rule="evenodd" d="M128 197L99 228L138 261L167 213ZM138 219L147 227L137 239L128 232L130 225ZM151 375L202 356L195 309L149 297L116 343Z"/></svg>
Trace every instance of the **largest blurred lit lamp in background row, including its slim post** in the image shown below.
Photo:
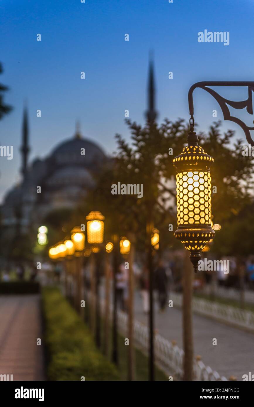
<svg viewBox="0 0 254 407"><path fill-rule="evenodd" d="M100 283L100 258L99 251L100 245L104 240L104 219L105 217L99 211L91 211L87 217L87 239L89 244L95 245L92 250L95 258L95 315L96 315L96 328L95 328L95 341L98 347L101 346L101 322L100 322L100 299L99 299L99 283ZM97 253L96 253L97 252Z"/></svg>

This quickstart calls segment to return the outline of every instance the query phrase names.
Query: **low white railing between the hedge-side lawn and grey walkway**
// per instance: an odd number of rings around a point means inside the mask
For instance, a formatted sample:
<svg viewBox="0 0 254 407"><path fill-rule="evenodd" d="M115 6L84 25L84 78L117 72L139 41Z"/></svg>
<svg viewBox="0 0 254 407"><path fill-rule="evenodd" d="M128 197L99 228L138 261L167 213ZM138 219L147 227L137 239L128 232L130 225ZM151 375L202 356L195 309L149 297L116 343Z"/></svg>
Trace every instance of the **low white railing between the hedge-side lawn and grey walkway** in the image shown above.
<svg viewBox="0 0 254 407"><path fill-rule="evenodd" d="M87 293L87 299L91 302L92 294ZM100 300L101 314L105 313L105 300ZM109 306L109 319L113 319L113 306ZM122 335L127 335L128 332L128 314L117 311L118 331ZM134 320L134 340L135 344L142 351L149 351L149 330L145 324ZM184 351L179 348L175 341L170 342L159 334L154 335L154 354L155 363L167 375L173 376L174 379L181 380L183 378L183 359ZM213 371L210 366L205 366L204 363L197 358L193 362L193 372L195 380L199 381L225 381L226 377L220 376L218 372Z"/></svg>

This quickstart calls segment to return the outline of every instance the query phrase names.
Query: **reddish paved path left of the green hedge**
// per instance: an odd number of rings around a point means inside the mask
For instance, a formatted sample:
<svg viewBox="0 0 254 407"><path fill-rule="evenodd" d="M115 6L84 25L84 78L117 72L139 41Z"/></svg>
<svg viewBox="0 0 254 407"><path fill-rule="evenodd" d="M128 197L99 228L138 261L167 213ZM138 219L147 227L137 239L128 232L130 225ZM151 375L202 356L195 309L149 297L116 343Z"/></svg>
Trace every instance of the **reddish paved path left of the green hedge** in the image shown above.
<svg viewBox="0 0 254 407"><path fill-rule="evenodd" d="M45 380L39 295L0 296L0 374Z"/></svg>

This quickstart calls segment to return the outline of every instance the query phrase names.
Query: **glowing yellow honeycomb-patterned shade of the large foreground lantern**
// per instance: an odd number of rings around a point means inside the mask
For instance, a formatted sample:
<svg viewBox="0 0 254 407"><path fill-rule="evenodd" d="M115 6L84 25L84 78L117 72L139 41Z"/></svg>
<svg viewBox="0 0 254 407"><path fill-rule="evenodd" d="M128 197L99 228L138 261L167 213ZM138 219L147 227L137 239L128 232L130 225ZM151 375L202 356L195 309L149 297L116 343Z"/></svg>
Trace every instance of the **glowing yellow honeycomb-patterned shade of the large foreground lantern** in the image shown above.
<svg viewBox="0 0 254 407"><path fill-rule="evenodd" d="M211 176L206 171L186 171L176 176L177 223L211 226Z"/></svg>

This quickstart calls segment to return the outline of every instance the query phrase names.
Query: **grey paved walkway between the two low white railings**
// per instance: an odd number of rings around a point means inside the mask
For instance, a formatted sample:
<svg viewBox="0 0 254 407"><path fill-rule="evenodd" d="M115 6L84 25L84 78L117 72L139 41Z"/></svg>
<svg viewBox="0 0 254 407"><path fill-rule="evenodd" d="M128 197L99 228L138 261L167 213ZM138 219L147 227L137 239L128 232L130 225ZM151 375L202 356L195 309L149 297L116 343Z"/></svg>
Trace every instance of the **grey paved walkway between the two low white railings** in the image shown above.
<svg viewBox="0 0 254 407"><path fill-rule="evenodd" d="M148 316L142 312L140 294L135 293L134 318L147 324ZM182 311L167 307L159 313L155 304L155 328L164 338L182 344ZM194 354L201 355L206 366L227 379L231 375L242 380L243 374L254 373L254 334L228 326L213 319L193 314ZM213 338L217 345L212 345Z"/></svg>

